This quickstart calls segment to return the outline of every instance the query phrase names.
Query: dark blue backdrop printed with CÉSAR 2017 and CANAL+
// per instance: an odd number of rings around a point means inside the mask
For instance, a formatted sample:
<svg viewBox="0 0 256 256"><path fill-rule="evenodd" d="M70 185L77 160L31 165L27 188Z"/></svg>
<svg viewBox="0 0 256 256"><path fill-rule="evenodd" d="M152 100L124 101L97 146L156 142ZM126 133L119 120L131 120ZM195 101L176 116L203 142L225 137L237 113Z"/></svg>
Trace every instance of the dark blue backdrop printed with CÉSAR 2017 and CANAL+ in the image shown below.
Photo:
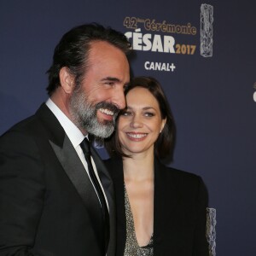
<svg viewBox="0 0 256 256"><path fill-rule="evenodd" d="M169 165L207 185L211 255L254 255L255 12L249 0L1 1L0 133L47 99L45 72L64 32L112 26L131 40L132 73L166 91L177 125Z"/></svg>

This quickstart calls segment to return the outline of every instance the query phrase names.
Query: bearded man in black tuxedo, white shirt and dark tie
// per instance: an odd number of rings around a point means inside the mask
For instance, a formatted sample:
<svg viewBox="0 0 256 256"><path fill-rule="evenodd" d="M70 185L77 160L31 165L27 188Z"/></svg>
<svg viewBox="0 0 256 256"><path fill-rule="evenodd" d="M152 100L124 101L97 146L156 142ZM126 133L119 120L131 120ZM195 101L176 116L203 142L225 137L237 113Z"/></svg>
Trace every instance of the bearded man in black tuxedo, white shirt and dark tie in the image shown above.
<svg viewBox="0 0 256 256"><path fill-rule="evenodd" d="M0 137L1 256L114 255L113 183L80 144L112 134L129 51L123 34L97 24L74 27L56 46L48 101Z"/></svg>

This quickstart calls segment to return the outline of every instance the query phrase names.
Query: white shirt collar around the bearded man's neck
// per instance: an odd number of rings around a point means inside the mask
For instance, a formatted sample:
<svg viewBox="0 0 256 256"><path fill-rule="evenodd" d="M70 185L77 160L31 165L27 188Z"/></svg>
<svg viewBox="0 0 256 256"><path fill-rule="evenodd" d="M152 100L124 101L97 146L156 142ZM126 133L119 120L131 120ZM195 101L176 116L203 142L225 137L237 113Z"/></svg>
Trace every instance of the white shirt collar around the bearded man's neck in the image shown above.
<svg viewBox="0 0 256 256"><path fill-rule="evenodd" d="M73 147L77 148L84 140L84 135L79 130L78 126L74 125L73 122L68 119L67 115L63 113L50 98L47 100L47 102L45 102L45 104L51 110L51 112L55 114L56 119L58 119L61 123L61 126L73 144Z"/></svg>

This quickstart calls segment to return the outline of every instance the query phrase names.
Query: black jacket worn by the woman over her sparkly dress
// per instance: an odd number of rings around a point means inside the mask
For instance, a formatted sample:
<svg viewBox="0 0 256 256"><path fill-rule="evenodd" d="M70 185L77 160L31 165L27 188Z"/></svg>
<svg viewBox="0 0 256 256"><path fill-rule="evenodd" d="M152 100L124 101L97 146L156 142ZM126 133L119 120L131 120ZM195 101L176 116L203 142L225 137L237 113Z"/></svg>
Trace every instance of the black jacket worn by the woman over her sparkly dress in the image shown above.
<svg viewBox="0 0 256 256"><path fill-rule="evenodd" d="M106 160L117 205L117 256L125 249L125 193L121 160ZM154 255L206 256L207 190L194 174L154 160Z"/></svg>

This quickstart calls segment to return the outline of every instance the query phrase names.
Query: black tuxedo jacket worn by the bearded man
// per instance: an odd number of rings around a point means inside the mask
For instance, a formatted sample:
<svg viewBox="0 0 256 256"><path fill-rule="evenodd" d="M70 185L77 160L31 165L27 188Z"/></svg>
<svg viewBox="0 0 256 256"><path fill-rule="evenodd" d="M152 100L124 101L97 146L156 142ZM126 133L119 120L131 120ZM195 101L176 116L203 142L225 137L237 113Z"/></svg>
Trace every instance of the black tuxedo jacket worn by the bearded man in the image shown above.
<svg viewBox="0 0 256 256"><path fill-rule="evenodd" d="M92 154L108 197L113 256L113 183L93 149ZM72 143L43 104L0 137L0 255L105 255L90 187Z"/></svg>

